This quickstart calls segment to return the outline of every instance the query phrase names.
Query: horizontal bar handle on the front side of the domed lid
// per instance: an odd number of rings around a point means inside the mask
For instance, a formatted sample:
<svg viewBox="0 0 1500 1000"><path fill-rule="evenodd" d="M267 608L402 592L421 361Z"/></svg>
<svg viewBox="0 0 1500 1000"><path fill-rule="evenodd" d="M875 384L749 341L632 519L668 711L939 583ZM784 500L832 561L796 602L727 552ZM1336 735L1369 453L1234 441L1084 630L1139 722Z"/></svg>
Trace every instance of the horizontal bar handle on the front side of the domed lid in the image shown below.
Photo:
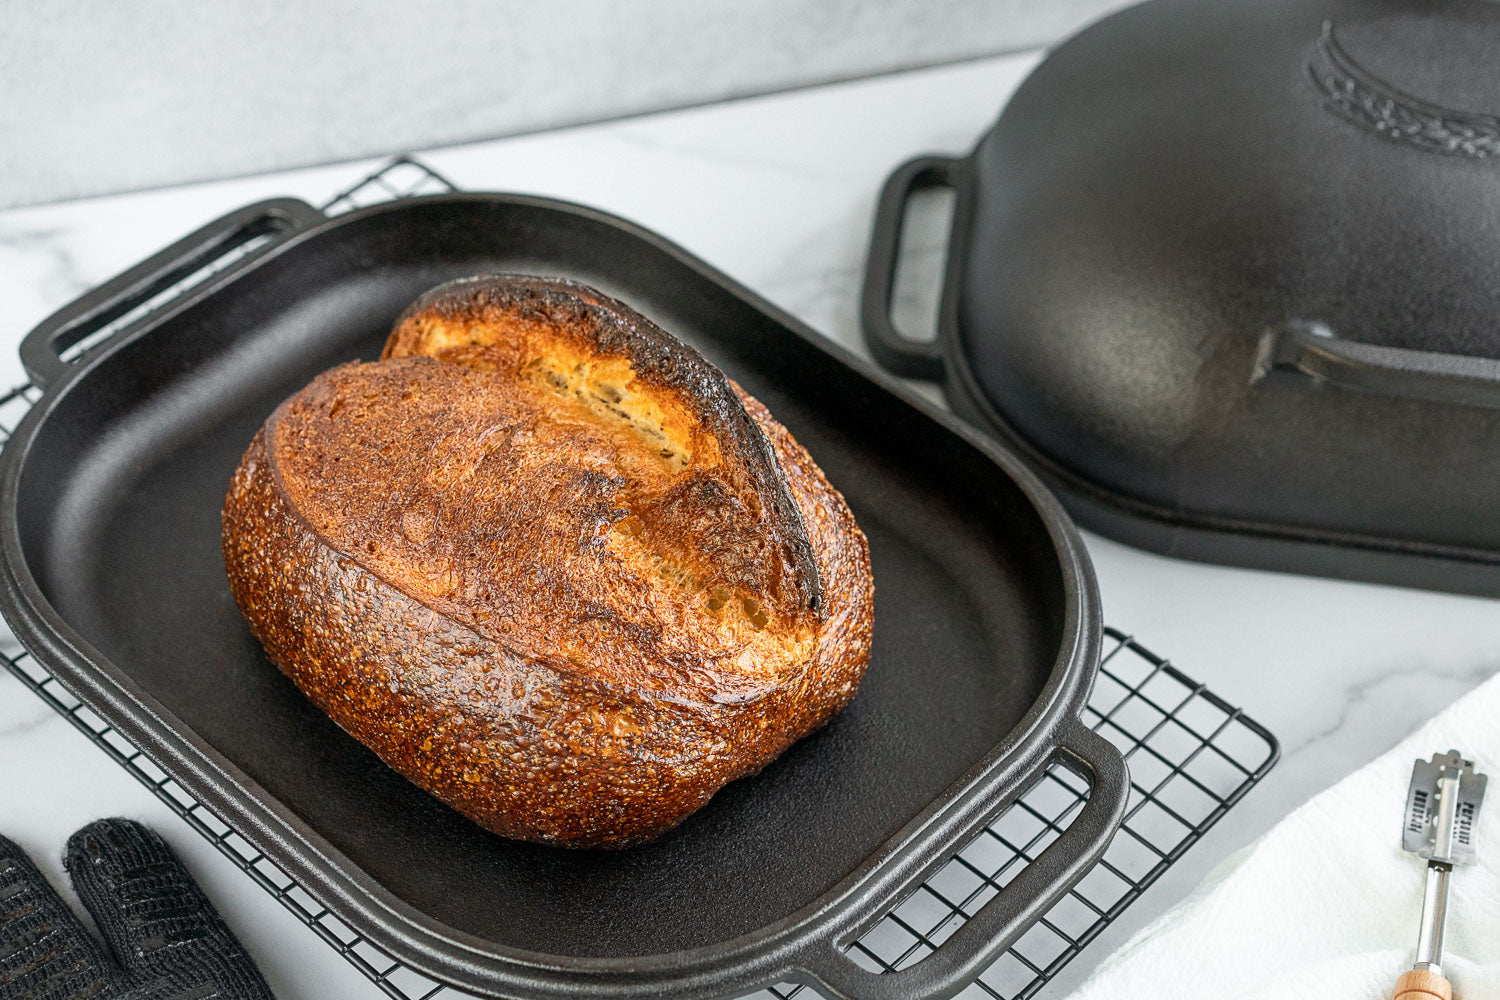
<svg viewBox="0 0 1500 1000"><path fill-rule="evenodd" d="M1275 330L1270 364L1380 396L1500 409L1500 360L1346 340L1316 322Z"/></svg>

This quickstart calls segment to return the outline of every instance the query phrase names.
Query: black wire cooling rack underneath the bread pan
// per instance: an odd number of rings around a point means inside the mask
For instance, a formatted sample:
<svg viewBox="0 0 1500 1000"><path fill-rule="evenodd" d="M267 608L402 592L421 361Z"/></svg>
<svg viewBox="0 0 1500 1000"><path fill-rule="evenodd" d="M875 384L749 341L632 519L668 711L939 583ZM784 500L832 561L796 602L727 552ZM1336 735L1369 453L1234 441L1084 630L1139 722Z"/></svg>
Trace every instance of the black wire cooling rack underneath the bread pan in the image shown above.
<svg viewBox="0 0 1500 1000"><path fill-rule="evenodd" d="M400 157L330 199L324 211L339 214L393 198L448 190L456 187L440 174ZM188 276L99 336L134 322L252 250L242 247ZM98 336L90 337L94 340ZM87 343L76 349L87 349ZM38 396L32 385L0 396L0 442ZM75 699L9 634L0 634L0 663L388 996L396 1000L466 996L402 966L360 937ZM1119 747L1130 763L1125 822L1102 861L960 994L963 1000L1034 997L1233 808L1280 756L1276 739L1263 726L1113 628L1106 628L1102 667L1084 721ZM1072 823L1088 792L1088 783L1066 768L1050 768L1014 807L850 945L852 958L878 972L921 961ZM804 985L782 984L762 990L753 1000L796 996L814 994Z"/></svg>

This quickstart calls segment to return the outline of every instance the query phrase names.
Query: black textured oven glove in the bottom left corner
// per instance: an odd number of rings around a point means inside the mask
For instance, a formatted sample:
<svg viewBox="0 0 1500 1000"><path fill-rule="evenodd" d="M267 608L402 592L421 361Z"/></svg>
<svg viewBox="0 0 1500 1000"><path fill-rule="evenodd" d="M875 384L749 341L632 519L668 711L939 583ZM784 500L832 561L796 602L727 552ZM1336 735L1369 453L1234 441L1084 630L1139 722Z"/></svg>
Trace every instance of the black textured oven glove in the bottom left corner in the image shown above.
<svg viewBox="0 0 1500 1000"><path fill-rule="evenodd" d="M0 1000L273 1000L154 832L90 823L68 840L64 864L108 949L0 837Z"/></svg>

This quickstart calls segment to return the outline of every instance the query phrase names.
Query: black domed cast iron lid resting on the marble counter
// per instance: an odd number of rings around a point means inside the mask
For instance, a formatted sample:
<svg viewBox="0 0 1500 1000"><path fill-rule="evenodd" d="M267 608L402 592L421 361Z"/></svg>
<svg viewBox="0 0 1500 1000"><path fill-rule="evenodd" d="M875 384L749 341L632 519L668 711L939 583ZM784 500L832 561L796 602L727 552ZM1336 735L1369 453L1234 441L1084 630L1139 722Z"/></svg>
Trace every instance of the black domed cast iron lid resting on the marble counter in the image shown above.
<svg viewBox="0 0 1500 1000"><path fill-rule="evenodd" d="M1500 3L1152 0L882 198L872 351L1084 526L1500 594ZM906 196L957 192L936 343L890 324Z"/></svg>

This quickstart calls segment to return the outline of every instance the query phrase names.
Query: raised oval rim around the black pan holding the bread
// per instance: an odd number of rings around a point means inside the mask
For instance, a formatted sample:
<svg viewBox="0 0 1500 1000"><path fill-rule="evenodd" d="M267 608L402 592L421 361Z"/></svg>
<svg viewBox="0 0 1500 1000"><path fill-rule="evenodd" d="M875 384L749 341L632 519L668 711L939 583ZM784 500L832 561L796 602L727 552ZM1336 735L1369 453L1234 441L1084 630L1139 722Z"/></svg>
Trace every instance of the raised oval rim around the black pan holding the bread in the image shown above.
<svg viewBox="0 0 1500 1000"><path fill-rule="evenodd" d="M639 957L573 957L534 952L480 939L422 913L398 898L342 852L302 822L285 804L236 768L207 739L195 733L120 667L78 634L51 606L34 579L21 543L18 507L27 457L48 415L110 357L150 334L170 316L220 292L303 243L387 213L411 211L441 202L483 202L546 208L616 228L750 307L768 315L786 331L831 354L873 387L892 394L944 430L957 435L978 456L999 466L1035 510L1047 531L1062 579L1062 642L1042 691L1012 730L952 786L927 804L886 843L832 889L786 918L734 939L676 952ZM258 850L304 886L320 903L375 945L404 963L465 990L525 991L526 996L574 996L588 988L610 996L656 996L670 988L681 996L720 996L726 990L758 987L777 976L806 972L798 957L813 945L852 936L872 918L872 907L912 882L910 870L934 852L946 855L952 829L980 828L976 816L1012 799L1018 777L1058 750L1060 726L1077 721L1092 690L1101 646L1098 588L1082 537L1060 502L1042 481L1006 448L980 430L944 412L916 393L880 373L873 364L824 337L686 249L626 219L585 205L532 195L462 192L386 202L350 211L296 232L244 267L231 267L120 331L44 387L0 454L0 610L27 649L75 696L123 735L154 751L153 760L184 790L214 813L256 835ZM231 792L232 790L232 792ZM321 865L321 867L320 867ZM894 886L892 886L894 883ZM879 916L874 913L873 916Z"/></svg>

